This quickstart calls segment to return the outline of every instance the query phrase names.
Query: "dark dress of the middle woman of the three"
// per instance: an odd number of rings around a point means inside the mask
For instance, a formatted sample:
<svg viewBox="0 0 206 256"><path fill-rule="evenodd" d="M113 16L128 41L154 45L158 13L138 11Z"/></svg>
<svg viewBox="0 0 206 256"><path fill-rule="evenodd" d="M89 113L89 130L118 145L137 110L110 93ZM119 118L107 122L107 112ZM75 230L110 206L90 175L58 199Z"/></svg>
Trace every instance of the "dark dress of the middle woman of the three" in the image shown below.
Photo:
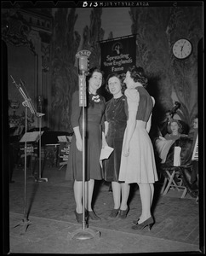
<svg viewBox="0 0 206 256"><path fill-rule="evenodd" d="M123 134L127 125L127 116L124 111L125 96L106 102L105 119L109 123L106 142L114 148L108 160L104 161L105 180L118 182L118 174L123 147Z"/></svg>

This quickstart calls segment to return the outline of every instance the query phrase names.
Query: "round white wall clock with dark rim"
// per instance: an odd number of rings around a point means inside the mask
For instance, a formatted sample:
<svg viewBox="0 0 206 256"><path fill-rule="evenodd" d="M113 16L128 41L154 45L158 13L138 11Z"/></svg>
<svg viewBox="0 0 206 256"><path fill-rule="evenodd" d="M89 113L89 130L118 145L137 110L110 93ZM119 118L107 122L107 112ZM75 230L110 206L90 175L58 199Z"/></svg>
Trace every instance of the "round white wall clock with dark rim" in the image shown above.
<svg viewBox="0 0 206 256"><path fill-rule="evenodd" d="M173 54L178 59L186 59L192 53L192 44L187 39L179 39L173 45Z"/></svg>

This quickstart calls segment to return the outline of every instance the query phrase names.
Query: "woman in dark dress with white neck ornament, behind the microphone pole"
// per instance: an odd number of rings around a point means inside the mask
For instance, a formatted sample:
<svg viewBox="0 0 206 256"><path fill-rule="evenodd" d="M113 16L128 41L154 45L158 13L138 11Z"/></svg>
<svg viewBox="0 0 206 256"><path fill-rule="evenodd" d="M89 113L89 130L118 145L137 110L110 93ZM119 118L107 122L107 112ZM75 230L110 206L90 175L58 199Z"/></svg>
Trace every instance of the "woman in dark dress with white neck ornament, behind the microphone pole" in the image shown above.
<svg viewBox="0 0 206 256"><path fill-rule="evenodd" d="M89 218L99 220L91 206L94 179L101 180L103 171L100 167L100 150L102 148L102 126L104 125L105 98L97 94L102 84L102 73L92 68L87 76L87 107L85 107L85 207ZM72 96L71 122L74 131L70 154L66 168L66 179L74 180L74 198L76 201L75 215L77 222L83 220L83 116L79 107L79 92ZM86 212L86 213L87 213ZM86 214L85 214L86 215Z"/></svg>

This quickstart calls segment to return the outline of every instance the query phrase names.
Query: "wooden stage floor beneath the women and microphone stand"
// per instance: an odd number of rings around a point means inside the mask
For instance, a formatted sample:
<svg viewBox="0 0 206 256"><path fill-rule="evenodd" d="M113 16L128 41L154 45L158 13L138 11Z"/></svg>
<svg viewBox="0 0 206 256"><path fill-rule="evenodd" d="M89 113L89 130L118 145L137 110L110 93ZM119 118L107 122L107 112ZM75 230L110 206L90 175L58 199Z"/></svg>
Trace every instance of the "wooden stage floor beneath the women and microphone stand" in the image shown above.
<svg viewBox="0 0 206 256"><path fill-rule="evenodd" d="M26 172L27 230L22 233L24 218L24 168L16 167L9 183L10 253L174 253L199 252L199 207L195 198L169 190L160 195L161 184L155 185L152 230L132 230L132 221L140 216L140 193L133 185L129 197L129 213L124 220L107 219L112 210L109 184L95 183L94 211L98 222L90 221L92 239L72 236L83 230L74 216L75 201L72 182L65 180L66 166L45 166L42 177L48 182L35 182L31 170ZM20 224L20 225L18 225ZM18 226L16 226L18 225ZM16 227L15 227L16 226ZM23 225L24 227L24 225ZM88 230L88 231L89 231ZM84 233L87 231L83 230Z"/></svg>

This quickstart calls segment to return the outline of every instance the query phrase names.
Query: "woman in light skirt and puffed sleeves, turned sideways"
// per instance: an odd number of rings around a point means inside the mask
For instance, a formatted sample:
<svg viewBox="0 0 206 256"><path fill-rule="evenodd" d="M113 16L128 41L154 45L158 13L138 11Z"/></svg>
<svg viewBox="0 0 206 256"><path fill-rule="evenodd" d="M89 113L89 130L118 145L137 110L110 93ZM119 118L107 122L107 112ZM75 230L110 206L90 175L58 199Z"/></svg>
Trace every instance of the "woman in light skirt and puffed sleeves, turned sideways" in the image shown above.
<svg viewBox="0 0 206 256"><path fill-rule="evenodd" d="M154 150L149 131L154 99L146 90L147 79L142 67L129 67L124 83L127 85L127 127L123 137L123 150L119 181L138 183L141 215L134 220L134 230L151 229L154 183L158 180Z"/></svg>

